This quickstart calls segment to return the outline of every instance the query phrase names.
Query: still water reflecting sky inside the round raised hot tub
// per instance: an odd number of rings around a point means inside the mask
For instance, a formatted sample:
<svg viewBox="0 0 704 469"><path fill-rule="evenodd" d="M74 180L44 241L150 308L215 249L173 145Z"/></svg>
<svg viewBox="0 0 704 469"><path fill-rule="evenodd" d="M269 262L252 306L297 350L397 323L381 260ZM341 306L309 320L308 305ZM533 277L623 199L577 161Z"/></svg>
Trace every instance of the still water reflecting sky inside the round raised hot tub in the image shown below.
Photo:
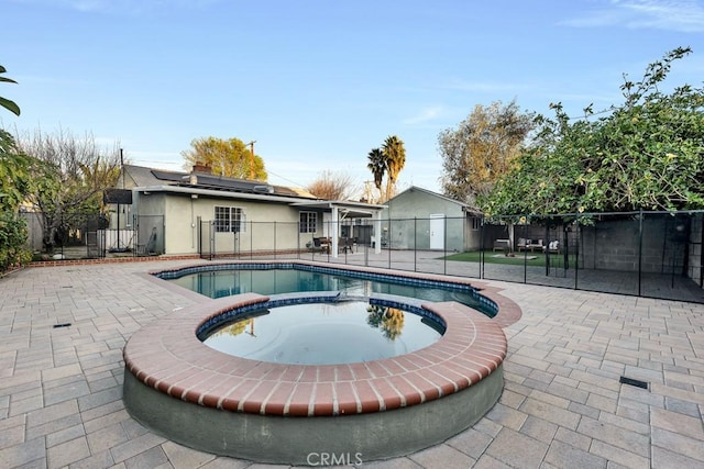
<svg viewBox="0 0 704 469"><path fill-rule="evenodd" d="M224 354L288 365L339 365L408 354L436 343L442 326L362 301L271 308L201 337Z"/></svg>

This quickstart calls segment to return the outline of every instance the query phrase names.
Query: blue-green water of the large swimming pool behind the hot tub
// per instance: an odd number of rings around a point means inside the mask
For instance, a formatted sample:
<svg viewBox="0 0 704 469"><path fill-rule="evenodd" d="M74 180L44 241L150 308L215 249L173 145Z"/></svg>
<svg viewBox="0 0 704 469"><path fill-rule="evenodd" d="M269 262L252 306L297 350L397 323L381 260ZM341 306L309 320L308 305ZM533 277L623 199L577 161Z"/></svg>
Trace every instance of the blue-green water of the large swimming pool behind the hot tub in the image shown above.
<svg viewBox="0 0 704 469"><path fill-rule="evenodd" d="M163 277L210 298L240 293L279 294L299 291L341 291L350 297L370 297L371 293L387 293L419 300L442 302L457 301L473 308L490 317L495 311L480 302L477 293L470 289L440 288L355 278L343 273L328 273L298 269L228 269L186 273L177 278Z"/></svg>

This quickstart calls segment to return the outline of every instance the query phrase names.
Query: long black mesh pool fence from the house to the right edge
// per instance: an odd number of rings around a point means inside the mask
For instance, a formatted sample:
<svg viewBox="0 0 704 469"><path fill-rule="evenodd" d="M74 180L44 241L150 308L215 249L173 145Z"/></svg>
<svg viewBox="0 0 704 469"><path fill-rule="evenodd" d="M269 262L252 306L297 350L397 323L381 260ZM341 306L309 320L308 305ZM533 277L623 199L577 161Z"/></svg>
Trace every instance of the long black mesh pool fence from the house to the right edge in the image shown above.
<svg viewBox="0 0 704 469"><path fill-rule="evenodd" d="M704 303L704 211L345 220L319 233L199 221L199 254L297 258ZM321 243L322 241L322 243ZM376 246L376 243L380 246Z"/></svg>

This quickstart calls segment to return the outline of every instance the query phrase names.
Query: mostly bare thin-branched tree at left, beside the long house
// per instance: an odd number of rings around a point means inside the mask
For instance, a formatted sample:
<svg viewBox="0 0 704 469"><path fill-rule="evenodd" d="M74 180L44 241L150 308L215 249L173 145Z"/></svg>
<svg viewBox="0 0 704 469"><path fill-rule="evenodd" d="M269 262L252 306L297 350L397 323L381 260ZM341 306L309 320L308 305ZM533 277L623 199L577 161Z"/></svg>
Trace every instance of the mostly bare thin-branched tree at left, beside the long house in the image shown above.
<svg viewBox="0 0 704 469"><path fill-rule="evenodd" d="M102 191L114 187L120 171L120 148L100 148L91 134L78 138L59 130L37 130L16 136L18 148L34 158L36 178L29 202L42 212L43 242L51 252L58 232L72 220L99 214Z"/></svg>

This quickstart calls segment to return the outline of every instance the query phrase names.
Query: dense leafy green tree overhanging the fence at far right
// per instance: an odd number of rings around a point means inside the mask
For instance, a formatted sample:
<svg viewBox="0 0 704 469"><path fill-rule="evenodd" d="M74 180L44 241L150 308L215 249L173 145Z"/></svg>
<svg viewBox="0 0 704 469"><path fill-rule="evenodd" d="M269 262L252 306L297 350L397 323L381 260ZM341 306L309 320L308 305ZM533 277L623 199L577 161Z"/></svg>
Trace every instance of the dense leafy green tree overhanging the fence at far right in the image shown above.
<svg viewBox="0 0 704 469"><path fill-rule="evenodd" d="M576 213L704 208L704 90L660 89L676 48L650 64L640 81L625 76L625 101L605 115L591 107L570 120L540 118L536 145L482 203L490 214ZM596 120L590 120L601 115Z"/></svg>

